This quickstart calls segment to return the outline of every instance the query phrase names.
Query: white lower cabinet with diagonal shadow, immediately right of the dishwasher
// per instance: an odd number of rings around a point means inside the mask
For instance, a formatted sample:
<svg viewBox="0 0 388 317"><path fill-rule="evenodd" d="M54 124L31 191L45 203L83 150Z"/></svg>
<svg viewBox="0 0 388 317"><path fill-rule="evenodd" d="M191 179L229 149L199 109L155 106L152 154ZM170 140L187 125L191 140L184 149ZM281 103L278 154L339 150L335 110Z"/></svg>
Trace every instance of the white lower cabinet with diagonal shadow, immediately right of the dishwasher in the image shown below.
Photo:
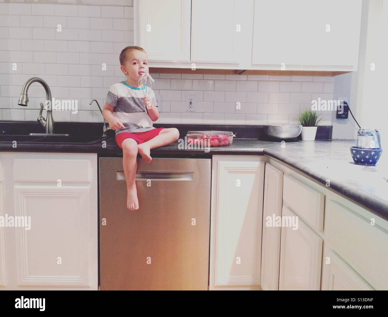
<svg viewBox="0 0 388 317"><path fill-rule="evenodd" d="M213 155L210 289L260 289L263 157Z"/></svg>

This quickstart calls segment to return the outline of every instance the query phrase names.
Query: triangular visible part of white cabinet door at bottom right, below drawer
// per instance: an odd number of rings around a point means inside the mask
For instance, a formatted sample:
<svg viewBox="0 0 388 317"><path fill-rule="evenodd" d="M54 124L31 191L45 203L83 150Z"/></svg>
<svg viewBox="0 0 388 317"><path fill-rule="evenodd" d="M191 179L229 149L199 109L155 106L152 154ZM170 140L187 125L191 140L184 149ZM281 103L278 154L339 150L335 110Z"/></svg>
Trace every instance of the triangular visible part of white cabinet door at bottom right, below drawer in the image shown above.
<svg viewBox="0 0 388 317"><path fill-rule="evenodd" d="M322 267L322 290L372 291L373 288L333 250L325 247Z"/></svg>

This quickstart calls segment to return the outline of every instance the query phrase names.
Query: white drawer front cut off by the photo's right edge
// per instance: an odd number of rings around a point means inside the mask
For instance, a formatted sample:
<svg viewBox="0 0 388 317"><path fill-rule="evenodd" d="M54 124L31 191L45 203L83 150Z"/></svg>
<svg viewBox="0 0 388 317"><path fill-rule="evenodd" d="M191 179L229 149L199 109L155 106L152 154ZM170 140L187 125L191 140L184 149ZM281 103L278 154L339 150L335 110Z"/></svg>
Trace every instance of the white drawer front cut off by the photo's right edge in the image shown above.
<svg viewBox="0 0 388 317"><path fill-rule="evenodd" d="M375 289L388 289L388 232L371 219L329 200L325 235L333 249Z"/></svg>

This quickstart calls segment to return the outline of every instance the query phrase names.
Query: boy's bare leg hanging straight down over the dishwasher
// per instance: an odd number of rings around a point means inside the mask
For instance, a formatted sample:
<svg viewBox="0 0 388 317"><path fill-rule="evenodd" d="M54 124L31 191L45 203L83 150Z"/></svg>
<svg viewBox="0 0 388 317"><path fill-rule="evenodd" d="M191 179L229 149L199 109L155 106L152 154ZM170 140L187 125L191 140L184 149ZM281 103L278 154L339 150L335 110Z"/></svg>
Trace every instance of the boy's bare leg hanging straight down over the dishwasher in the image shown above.
<svg viewBox="0 0 388 317"><path fill-rule="evenodd" d="M126 181L126 207L129 210L139 209L139 200L137 199L137 190L135 184L135 176L137 170L137 142L133 139L124 139L121 143L123 149L123 169Z"/></svg>

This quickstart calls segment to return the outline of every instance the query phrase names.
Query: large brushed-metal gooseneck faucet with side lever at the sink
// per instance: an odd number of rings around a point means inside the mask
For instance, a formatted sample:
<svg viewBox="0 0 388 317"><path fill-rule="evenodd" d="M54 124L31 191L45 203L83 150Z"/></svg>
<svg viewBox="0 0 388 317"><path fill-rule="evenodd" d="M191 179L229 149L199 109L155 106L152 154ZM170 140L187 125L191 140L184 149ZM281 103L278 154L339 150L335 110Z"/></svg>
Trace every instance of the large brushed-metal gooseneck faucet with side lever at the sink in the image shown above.
<svg viewBox="0 0 388 317"><path fill-rule="evenodd" d="M52 117L52 98L51 98L51 91L49 88L49 85L39 77L33 77L28 79L26 83L24 83L22 93L20 94L19 102L17 103L19 106L27 107L28 103L28 88L31 86L32 83L38 82L42 84L43 88L45 88L46 91L46 105L47 105L47 116L46 119L42 116L43 111L43 103L40 103L40 112L38 117L38 122L45 128L46 133L30 133L30 135L61 135L61 136L68 136L69 134L54 134L54 119Z"/></svg>

